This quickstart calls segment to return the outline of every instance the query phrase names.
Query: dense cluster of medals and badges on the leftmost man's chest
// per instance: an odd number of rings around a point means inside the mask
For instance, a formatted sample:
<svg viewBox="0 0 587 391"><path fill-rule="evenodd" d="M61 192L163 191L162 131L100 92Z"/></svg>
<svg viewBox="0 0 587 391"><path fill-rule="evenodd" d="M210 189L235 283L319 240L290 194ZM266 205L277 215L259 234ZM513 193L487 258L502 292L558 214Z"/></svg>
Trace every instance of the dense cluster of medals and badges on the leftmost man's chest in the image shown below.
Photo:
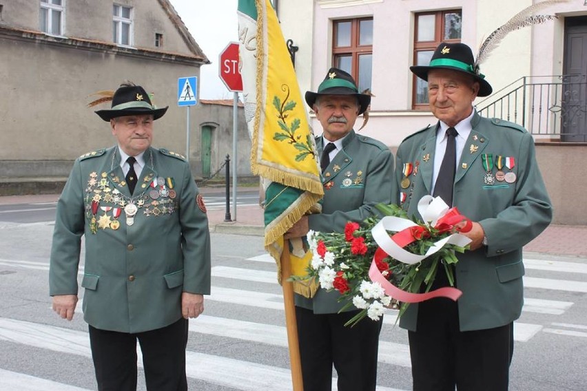
<svg viewBox="0 0 587 391"><path fill-rule="evenodd" d="M99 196L99 193L101 192L101 190L104 191L105 193L109 193L110 186L108 185L108 182L106 179L106 173L102 173L102 179L100 180L100 182L97 182L96 178L97 178L96 173L90 174L90 182L88 183L89 187L86 191L88 193L90 193L90 191L93 191L94 193L96 193L96 195L94 195L93 200L95 202L99 202L99 200L96 200L96 196ZM150 180L150 178L145 178L145 180ZM119 182L117 180L117 178L114 178L114 182L117 182L119 184L119 186L124 186L124 184L125 184L124 182ZM94 187L96 184L98 184L101 187L101 189L92 189L92 187ZM171 199L176 198L176 191L173 189L167 189L167 187L165 187L165 178L160 176L160 177L156 178L155 180L153 180L152 184L156 184L160 187L159 190L153 189L153 190L149 191L149 197L152 198L152 200L156 200L159 197L169 197ZM96 190L98 190L98 191L96 192ZM123 193L121 193L119 191L119 189L112 190L112 202L114 202L114 204L119 204L122 207L124 207L124 213L126 215L127 226L132 226L134 224L134 216L138 212L139 207L142 207L143 204L145 204L146 199L147 199L147 196L144 194L141 194L141 196L138 198L138 200L136 200L136 204L135 204L135 198L128 198L126 195L123 195ZM138 204L138 206L137 206L137 204ZM120 228L121 223L118 220L116 220L116 217L114 218L114 220L112 220L112 222L110 222L110 229L116 230L116 229ZM95 216L92 216L91 224L92 225L96 224ZM92 229L92 231L94 231L94 229Z"/></svg>

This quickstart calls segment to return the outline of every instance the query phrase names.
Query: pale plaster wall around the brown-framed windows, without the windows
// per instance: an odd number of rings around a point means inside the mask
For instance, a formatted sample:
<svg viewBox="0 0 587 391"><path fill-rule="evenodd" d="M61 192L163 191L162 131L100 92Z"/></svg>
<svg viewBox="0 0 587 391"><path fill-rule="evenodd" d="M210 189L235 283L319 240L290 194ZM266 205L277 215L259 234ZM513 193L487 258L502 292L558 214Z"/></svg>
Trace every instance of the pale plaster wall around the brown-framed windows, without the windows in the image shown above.
<svg viewBox="0 0 587 391"><path fill-rule="evenodd" d="M300 33L312 36L311 70L302 71L296 58L296 70L302 92L316 91L332 65L332 21L356 17L373 17L373 82L375 97L371 103L369 122L362 134L382 140L390 147L414 131L436 122L430 112L411 110L414 14L429 10L461 9L462 42L477 53L484 39L534 0L316 0L313 3L313 29L307 26L308 1L297 4L295 10L289 1L280 1L282 29L291 31L300 23ZM584 1L569 1L546 8L544 14L579 16L587 14ZM494 92L523 76L561 74L563 56L564 20L524 28L512 32L481 65L482 74L491 83ZM287 34L286 34L287 35ZM295 41L295 39L294 39ZM300 36L300 52L305 49ZM298 52L298 54L300 54ZM307 59L307 57L305 57ZM307 85L307 75L311 83ZM302 76L303 75L303 76ZM480 98L479 103L484 98ZM357 121L356 129L362 124ZM320 134L315 119L313 127Z"/></svg>

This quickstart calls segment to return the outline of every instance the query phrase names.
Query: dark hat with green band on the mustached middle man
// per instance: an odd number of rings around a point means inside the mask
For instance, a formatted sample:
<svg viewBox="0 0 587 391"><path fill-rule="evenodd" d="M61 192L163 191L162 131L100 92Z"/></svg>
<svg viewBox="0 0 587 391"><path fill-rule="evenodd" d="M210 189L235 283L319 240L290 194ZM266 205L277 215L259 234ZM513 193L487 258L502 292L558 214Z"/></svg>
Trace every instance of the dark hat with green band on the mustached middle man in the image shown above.
<svg viewBox="0 0 587 391"><path fill-rule="evenodd" d="M359 114L363 114L371 103L371 95L360 94L353 76L338 68L330 68L326 78L318 86L318 92L306 92L305 98L309 107L314 107L318 95L354 95L358 98L361 106Z"/></svg>

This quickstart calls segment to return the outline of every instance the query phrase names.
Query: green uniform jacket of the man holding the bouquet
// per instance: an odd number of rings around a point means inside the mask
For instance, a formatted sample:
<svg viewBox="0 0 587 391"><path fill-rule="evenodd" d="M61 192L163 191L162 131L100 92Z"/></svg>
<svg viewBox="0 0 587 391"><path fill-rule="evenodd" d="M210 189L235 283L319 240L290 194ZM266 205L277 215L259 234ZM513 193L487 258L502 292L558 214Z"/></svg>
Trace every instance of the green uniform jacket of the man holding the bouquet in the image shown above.
<svg viewBox="0 0 587 391"><path fill-rule="evenodd" d="M467 218L479 222L488 245L457 254L457 287L460 330L483 330L517 319L524 303L522 246L541 233L552 219L550 199L540 174L531 134L514 123L482 118L474 114L473 127L457 163L453 204ZM395 182L404 178L404 163L418 165L408 189L400 189L402 207L417 216L418 201L431 193L437 126L427 127L406 138L398 149ZM482 154L513 157L513 183L484 183ZM493 165L493 174L497 172ZM502 171L509 170L504 166ZM402 200L402 193L400 201ZM400 326L415 330L418 305L411 304Z"/></svg>

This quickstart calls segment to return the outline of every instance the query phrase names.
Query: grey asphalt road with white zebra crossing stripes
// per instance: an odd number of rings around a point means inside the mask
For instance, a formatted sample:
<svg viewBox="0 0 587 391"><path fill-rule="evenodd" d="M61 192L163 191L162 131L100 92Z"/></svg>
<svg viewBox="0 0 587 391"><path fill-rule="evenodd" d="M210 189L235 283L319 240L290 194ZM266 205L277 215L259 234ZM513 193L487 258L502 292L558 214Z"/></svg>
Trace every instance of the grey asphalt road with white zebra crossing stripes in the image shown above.
<svg viewBox="0 0 587 391"><path fill-rule="evenodd" d="M52 207L0 207L0 391L96 389L81 309L71 322L50 309ZM212 295L190 322L189 389L290 390L281 288L262 237L213 233L212 253ZM531 254L525 262L510 389L586 390L587 260ZM394 315L380 339L381 391L411 390L407 336Z"/></svg>

